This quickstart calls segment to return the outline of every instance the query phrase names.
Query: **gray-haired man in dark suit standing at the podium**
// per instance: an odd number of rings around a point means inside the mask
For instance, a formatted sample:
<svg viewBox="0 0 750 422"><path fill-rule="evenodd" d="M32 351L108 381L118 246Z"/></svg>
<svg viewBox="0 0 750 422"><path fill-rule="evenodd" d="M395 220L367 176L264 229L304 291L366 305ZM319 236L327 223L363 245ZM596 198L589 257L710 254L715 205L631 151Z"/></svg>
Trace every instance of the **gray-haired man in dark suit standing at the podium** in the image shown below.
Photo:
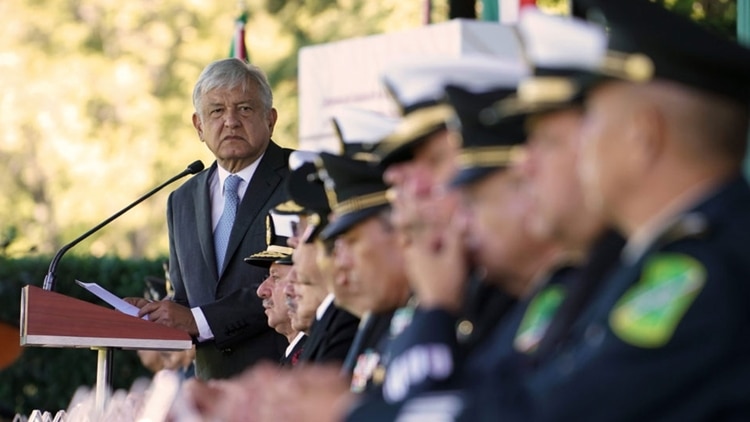
<svg viewBox="0 0 750 422"><path fill-rule="evenodd" d="M266 323L255 294L265 270L243 258L266 248L264 220L283 199L290 151L271 141L277 112L265 75L253 65L211 63L193 104L193 125L216 161L169 197L175 295L141 303L140 314L196 339L199 378L227 378L262 359L278 361L287 345Z"/></svg>

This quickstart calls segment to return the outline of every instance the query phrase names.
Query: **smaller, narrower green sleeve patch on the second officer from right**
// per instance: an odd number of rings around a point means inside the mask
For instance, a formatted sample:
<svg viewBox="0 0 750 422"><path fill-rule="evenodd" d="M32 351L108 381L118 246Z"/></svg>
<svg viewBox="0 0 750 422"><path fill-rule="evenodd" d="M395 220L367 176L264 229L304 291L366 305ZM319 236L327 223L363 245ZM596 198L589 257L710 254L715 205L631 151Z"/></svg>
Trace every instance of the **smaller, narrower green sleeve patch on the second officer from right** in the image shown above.
<svg viewBox="0 0 750 422"><path fill-rule="evenodd" d="M565 288L559 284L548 286L537 293L526 308L516 338L513 339L513 347L517 351L529 354L536 350L564 299Z"/></svg>

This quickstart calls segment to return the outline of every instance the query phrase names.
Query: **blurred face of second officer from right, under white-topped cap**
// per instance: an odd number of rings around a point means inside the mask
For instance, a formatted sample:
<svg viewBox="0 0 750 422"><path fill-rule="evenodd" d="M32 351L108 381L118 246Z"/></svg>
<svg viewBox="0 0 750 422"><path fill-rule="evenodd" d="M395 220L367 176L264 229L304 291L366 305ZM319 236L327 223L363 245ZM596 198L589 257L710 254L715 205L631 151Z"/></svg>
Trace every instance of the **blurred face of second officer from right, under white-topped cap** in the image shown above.
<svg viewBox="0 0 750 422"><path fill-rule="evenodd" d="M582 111L567 109L529 122L526 157L520 168L531 196L529 224L543 239L568 237L581 218L588 218L578 177Z"/></svg>

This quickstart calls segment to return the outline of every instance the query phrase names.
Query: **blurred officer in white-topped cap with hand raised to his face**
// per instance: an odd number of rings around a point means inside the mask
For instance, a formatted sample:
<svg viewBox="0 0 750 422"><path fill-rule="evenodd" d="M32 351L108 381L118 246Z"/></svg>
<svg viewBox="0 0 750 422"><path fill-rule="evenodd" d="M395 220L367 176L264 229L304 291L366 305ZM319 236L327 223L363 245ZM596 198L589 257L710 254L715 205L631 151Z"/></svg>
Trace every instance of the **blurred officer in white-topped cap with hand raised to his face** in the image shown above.
<svg viewBox="0 0 750 422"><path fill-rule="evenodd" d="M437 240L439 245L443 242L441 236L455 235L446 233L433 237L432 233L436 228L449 226L452 218L449 210L455 209L458 203L457 194L444 188L455 175L456 154L460 146L460 140L446 126L454 113L451 105L445 102L446 85L453 84L456 93L462 88L466 90L465 95L470 99L462 101L462 106L481 109L508 95L526 72L520 58L515 61L487 56L406 63L386 70L386 86L390 87L397 102L403 104L406 114L402 128L387 138L379 146L379 151L381 165L386 168L386 181L393 186L397 226L398 221L402 221L407 262L415 268L410 274L410 282L419 304L412 322L416 326L409 327L409 334L397 338L392 346L392 368L388 371L384 388L389 401L402 400L418 390L432 389L434 383L450 378L454 360L460 360L460 355L468 353L477 341L485 337L484 334L491 331L515 301L518 291L509 293L507 288L499 289L495 283L479 283L477 279L484 277L473 277L471 266L464 257L436 260L432 251L421 251L425 250L423 242ZM414 86L420 87L421 91ZM478 133L482 133L479 125L475 127ZM514 142L522 141L520 132L513 136ZM491 138L497 134L484 132L482 136ZM416 189L412 191L412 188ZM418 211L409 215L414 209ZM425 211L427 213L423 214ZM455 242L454 239L446 241ZM429 271L437 266L441 268L440 277ZM443 283L442 278L449 280ZM504 279L524 280L516 285L518 289L530 278L525 274ZM461 283L456 280L461 280ZM436 293L442 296L439 300L449 298L451 303L432 303L431 297ZM437 309L447 309L448 312L435 312ZM447 331L426 328L433 324L447 327ZM456 342L461 343L458 352L452 346ZM449 346L443 347L444 343ZM425 344L436 346L426 348ZM422 357L412 353L419 353ZM427 364L430 361L424 358L425 354L435 357L434 362ZM426 362L422 371L412 371L408 362L420 360ZM446 371L446 367L450 369Z"/></svg>

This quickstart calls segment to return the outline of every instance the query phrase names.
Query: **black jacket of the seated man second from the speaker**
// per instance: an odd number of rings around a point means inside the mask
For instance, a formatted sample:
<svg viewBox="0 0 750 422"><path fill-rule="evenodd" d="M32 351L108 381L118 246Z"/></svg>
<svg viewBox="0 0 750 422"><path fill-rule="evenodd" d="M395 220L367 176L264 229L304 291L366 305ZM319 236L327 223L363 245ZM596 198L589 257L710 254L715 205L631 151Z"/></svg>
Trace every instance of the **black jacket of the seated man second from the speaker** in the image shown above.
<svg viewBox="0 0 750 422"><path fill-rule="evenodd" d="M359 318L331 303L323 317L310 327L300 361L343 363L358 326Z"/></svg>

